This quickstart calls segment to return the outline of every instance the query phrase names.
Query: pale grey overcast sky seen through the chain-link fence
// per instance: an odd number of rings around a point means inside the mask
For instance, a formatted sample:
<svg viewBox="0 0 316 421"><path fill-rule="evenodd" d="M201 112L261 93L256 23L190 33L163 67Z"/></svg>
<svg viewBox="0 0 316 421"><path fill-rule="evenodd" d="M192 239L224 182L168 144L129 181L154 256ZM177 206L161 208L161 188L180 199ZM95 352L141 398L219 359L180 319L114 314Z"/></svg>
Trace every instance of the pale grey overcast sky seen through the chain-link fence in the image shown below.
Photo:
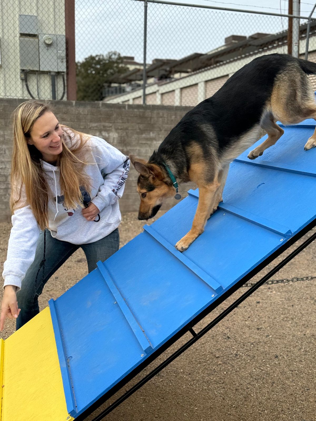
<svg viewBox="0 0 316 421"><path fill-rule="evenodd" d="M179 0L273 13L287 13L287 0ZM313 8L301 1L301 16ZM260 7L258 7L260 5ZM118 51L143 61L144 3L137 0L75 0L76 60ZM313 14L316 17L316 13ZM275 33L287 28L287 18L148 3L147 63L155 58L180 59L206 53L229 35ZM301 21L303 23L303 21Z"/></svg>

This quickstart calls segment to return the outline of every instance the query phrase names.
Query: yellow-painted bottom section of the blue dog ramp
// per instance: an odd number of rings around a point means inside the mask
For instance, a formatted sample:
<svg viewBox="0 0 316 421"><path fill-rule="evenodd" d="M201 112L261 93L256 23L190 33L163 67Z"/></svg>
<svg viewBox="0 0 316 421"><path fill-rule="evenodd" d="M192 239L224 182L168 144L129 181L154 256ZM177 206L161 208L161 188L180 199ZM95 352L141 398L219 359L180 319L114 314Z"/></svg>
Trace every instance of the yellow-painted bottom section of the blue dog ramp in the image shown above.
<svg viewBox="0 0 316 421"><path fill-rule="evenodd" d="M48 307L6 339L4 347L1 341L2 361L1 421L74 420L67 413Z"/></svg>

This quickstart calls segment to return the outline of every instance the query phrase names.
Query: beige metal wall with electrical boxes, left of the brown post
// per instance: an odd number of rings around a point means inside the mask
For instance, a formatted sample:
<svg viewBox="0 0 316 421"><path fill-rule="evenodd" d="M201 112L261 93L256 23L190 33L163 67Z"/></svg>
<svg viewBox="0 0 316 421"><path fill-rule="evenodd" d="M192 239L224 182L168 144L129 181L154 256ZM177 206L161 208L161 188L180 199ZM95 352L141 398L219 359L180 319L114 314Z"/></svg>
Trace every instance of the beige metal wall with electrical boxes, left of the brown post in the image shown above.
<svg viewBox="0 0 316 421"><path fill-rule="evenodd" d="M66 99L65 6L1 1L0 97Z"/></svg>

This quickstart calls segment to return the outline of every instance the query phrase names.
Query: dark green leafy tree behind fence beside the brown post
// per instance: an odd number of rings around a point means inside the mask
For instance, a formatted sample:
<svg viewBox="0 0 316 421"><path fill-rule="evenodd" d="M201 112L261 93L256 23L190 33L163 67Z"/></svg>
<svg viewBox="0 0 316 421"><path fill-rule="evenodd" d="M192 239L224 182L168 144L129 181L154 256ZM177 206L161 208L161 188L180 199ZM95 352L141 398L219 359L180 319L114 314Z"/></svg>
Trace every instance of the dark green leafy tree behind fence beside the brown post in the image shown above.
<svg viewBox="0 0 316 421"><path fill-rule="evenodd" d="M77 100L101 101L104 85L110 86L110 77L128 71L122 65L123 59L117 51L110 51L106 56L88 56L76 63Z"/></svg>

